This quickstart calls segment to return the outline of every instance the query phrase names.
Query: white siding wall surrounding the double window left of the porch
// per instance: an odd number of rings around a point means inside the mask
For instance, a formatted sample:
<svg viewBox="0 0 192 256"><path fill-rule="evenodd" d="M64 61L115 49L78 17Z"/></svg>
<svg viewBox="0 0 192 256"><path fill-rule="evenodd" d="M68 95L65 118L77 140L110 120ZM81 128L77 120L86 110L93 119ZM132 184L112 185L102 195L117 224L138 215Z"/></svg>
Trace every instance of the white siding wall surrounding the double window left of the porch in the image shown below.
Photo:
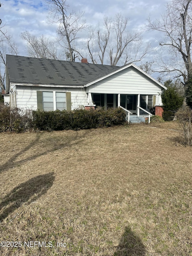
<svg viewBox="0 0 192 256"><path fill-rule="evenodd" d="M17 107L37 109L37 91L71 92L71 109L87 104L87 93L83 88L61 88L42 86L16 86Z"/></svg>

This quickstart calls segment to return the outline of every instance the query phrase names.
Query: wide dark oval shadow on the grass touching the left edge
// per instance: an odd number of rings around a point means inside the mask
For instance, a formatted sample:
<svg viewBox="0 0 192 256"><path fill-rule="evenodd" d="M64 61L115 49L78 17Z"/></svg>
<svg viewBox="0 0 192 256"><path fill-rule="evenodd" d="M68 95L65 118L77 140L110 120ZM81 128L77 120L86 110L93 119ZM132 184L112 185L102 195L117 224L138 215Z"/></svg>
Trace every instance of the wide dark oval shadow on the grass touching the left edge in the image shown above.
<svg viewBox="0 0 192 256"><path fill-rule="evenodd" d="M52 186L54 181L54 173L46 173L29 179L21 183L19 186L7 194L0 203L0 221L6 218L15 209L23 205L23 203L31 203L45 194Z"/></svg>

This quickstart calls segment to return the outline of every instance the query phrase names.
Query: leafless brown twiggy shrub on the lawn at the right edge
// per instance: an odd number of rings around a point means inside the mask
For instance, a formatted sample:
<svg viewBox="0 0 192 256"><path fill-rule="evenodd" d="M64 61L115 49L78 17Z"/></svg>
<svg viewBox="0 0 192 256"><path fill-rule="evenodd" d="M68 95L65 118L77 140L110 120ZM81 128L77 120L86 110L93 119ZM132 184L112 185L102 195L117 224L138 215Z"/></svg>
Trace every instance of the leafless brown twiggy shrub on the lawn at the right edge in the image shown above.
<svg viewBox="0 0 192 256"><path fill-rule="evenodd" d="M192 146L192 110L185 107L177 112L177 119L182 127L180 140L183 144Z"/></svg>

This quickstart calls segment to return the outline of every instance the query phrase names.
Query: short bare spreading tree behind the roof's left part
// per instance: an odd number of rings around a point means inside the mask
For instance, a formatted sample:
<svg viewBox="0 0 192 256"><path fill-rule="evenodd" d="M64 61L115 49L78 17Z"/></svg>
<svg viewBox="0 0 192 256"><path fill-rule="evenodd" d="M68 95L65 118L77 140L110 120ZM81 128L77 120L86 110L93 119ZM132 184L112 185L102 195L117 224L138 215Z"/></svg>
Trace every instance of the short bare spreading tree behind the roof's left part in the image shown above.
<svg viewBox="0 0 192 256"><path fill-rule="evenodd" d="M20 37L27 42L27 53L30 57L41 59L58 59L56 42L50 41L45 35L36 37L27 30Z"/></svg>

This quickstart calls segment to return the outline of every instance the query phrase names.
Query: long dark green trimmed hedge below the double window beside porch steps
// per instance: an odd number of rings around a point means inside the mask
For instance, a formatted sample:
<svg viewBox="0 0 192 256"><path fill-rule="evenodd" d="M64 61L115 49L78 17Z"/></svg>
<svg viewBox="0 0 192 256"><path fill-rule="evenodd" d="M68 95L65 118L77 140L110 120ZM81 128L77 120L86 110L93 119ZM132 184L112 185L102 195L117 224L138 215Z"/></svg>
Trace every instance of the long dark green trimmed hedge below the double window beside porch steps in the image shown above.
<svg viewBox="0 0 192 256"><path fill-rule="evenodd" d="M104 110L56 110L33 111L33 124L35 129L41 131L80 130L97 127L109 127L125 123L125 112L121 108Z"/></svg>

